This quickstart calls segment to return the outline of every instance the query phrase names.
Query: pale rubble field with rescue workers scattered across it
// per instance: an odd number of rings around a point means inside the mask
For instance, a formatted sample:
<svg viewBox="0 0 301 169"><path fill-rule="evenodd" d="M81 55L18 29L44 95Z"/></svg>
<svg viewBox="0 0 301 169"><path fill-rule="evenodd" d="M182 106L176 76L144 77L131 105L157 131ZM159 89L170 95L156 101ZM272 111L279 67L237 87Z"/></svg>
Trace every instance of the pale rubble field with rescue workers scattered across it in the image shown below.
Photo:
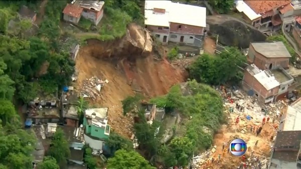
<svg viewBox="0 0 301 169"><path fill-rule="evenodd" d="M217 88L217 90L219 90ZM195 154L193 157L193 168L237 168L243 166L242 158L234 156L227 150L230 142L235 138L241 138L247 143L246 164L247 168L251 166L266 168L266 163L270 157L270 151L276 135L275 126L279 126L279 114L283 112L286 104L283 101L270 103L262 107L257 104L255 98L247 96L246 93L236 90L232 94L226 94L219 90L225 97L225 111L228 114L228 124L222 125L219 131L214 135L213 147L202 154ZM231 101L227 100L226 95L232 95ZM236 103L243 106L244 110L239 111ZM233 109L233 112L231 111ZM239 116L238 124L235 124ZM256 129L262 126L262 118L269 116L269 122L265 123L261 132L256 136ZM251 127L255 127L251 131ZM258 140L257 146L255 142ZM260 147L260 148L259 148ZM220 160L218 155L220 154ZM213 159L213 162L212 162Z"/></svg>

